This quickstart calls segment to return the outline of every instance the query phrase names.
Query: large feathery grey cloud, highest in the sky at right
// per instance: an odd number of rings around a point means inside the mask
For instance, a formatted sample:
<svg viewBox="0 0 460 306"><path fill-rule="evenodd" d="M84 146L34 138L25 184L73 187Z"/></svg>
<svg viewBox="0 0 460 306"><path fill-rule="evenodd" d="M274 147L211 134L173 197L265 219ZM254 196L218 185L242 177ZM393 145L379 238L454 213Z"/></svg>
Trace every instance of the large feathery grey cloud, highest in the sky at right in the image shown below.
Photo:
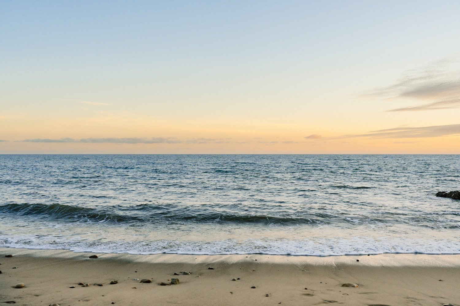
<svg viewBox="0 0 460 306"><path fill-rule="evenodd" d="M422 103L389 111L426 111L460 107L460 67L458 57L446 58L406 71L396 83L375 89L382 98L412 98Z"/></svg>

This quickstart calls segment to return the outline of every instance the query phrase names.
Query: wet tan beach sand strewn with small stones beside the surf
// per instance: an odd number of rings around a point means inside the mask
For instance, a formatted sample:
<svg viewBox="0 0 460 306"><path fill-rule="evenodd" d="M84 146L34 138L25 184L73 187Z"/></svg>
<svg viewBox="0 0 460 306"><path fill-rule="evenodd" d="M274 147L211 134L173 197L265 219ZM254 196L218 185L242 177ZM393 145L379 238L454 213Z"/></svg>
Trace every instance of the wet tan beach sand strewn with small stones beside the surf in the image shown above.
<svg viewBox="0 0 460 306"><path fill-rule="evenodd" d="M8 254L13 257L6 258ZM96 254L99 258L88 258L91 255L0 248L0 302L34 306L460 305L460 255ZM173 275L184 271L191 274ZM171 278L180 283L158 285ZM109 284L112 280L118 283ZM89 286L81 287L79 282ZM25 287L13 288L18 283ZM358 287L342 287L344 283Z"/></svg>

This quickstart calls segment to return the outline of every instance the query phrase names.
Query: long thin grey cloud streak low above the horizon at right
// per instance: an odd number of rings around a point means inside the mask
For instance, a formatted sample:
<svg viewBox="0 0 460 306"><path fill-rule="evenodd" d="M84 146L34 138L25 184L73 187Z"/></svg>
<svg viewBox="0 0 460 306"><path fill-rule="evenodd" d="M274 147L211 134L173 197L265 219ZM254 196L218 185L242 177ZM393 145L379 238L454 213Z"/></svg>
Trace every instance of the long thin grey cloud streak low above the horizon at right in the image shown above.
<svg viewBox="0 0 460 306"><path fill-rule="evenodd" d="M460 135L460 124L433 125L428 127L398 127L370 131L365 134L350 134L335 139L367 137L370 139L430 138Z"/></svg>

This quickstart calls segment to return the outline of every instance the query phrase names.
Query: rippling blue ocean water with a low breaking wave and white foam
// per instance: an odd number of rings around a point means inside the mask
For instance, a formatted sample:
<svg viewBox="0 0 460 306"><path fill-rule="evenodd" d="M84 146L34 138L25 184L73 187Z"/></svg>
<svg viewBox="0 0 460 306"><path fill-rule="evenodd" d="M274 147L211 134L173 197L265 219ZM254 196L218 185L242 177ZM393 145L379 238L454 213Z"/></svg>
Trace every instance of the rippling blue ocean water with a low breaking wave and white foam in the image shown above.
<svg viewBox="0 0 460 306"><path fill-rule="evenodd" d="M0 246L460 254L459 155L0 155Z"/></svg>

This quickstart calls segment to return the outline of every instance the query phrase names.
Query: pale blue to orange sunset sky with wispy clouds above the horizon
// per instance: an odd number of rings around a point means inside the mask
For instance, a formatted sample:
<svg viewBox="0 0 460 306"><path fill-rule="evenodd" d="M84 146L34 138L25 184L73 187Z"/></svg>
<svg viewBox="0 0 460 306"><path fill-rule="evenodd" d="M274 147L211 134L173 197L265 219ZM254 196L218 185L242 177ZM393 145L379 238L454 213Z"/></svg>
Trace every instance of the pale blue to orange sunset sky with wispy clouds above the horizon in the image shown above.
<svg viewBox="0 0 460 306"><path fill-rule="evenodd" d="M0 0L0 154L460 154L459 16Z"/></svg>

